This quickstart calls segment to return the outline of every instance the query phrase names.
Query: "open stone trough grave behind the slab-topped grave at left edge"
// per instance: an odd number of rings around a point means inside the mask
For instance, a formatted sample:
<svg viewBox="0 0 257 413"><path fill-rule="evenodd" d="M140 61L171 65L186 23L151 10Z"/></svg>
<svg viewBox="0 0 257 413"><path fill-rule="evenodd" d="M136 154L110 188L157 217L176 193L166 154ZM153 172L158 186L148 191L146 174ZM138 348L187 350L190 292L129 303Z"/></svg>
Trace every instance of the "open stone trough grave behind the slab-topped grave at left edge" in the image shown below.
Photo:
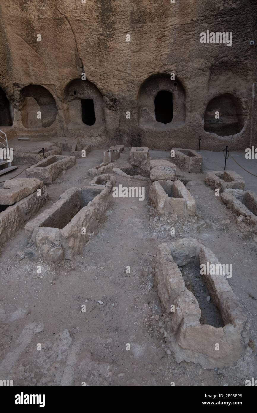
<svg viewBox="0 0 257 413"><path fill-rule="evenodd" d="M38 178L50 185L62 171L72 168L76 163L75 156L50 156L25 170L27 178Z"/></svg>

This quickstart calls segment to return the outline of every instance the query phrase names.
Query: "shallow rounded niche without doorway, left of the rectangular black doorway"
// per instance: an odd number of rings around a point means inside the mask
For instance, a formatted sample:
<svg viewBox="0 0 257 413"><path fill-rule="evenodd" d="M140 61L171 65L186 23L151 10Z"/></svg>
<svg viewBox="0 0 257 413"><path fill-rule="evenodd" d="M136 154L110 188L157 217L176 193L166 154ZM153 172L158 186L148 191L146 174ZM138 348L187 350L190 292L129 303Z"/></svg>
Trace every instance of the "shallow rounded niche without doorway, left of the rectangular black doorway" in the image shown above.
<svg viewBox="0 0 257 413"><path fill-rule="evenodd" d="M48 128L54 123L57 106L49 90L41 85L25 86L21 90L21 100L21 121L25 128Z"/></svg>

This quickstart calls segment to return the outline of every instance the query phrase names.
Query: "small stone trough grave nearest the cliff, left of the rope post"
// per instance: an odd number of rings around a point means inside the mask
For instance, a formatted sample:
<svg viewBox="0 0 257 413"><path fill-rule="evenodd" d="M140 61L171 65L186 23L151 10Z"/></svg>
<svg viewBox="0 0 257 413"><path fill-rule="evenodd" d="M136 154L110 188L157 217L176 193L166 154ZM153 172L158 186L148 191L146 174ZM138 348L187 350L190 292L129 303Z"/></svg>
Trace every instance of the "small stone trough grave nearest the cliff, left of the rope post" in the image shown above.
<svg viewBox="0 0 257 413"><path fill-rule="evenodd" d="M192 149L173 148L175 151L174 162L182 171L198 173L203 166L202 156ZM172 154L172 152L171 152Z"/></svg>

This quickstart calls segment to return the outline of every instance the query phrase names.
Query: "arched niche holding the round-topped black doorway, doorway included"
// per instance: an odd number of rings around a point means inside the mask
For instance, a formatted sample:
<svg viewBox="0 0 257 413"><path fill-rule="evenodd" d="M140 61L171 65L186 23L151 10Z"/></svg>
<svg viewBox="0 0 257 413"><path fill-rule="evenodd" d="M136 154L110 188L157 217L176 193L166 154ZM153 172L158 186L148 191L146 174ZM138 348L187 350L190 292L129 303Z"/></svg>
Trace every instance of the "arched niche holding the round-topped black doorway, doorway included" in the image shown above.
<svg viewBox="0 0 257 413"><path fill-rule="evenodd" d="M176 128L186 120L186 92L170 75L157 74L142 83L138 93L139 126L156 130Z"/></svg>

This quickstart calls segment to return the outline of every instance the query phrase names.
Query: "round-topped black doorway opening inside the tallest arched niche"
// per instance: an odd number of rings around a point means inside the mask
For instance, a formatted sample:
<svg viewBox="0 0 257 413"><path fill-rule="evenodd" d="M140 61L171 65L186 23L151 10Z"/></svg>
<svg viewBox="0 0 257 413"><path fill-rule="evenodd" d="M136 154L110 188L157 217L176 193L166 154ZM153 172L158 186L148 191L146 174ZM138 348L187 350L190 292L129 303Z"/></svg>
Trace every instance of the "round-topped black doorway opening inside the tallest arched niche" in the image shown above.
<svg viewBox="0 0 257 413"><path fill-rule="evenodd" d="M170 123L173 118L172 93L160 90L154 100L154 112L157 122Z"/></svg>

